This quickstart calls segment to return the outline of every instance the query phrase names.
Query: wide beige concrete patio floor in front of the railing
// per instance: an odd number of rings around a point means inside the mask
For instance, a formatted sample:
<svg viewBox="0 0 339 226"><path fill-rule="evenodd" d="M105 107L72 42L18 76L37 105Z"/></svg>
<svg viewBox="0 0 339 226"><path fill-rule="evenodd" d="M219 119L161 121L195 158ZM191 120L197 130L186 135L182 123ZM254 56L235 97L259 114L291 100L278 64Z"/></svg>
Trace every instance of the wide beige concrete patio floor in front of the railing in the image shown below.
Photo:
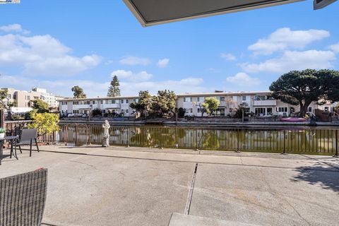
<svg viewBox="0 0 339 226"><path fill-rule="evenodd" d="M45 225L337 225L329 156L42 146L0 177L49 169ZM5 150L8 155L8 150ZM172 218L172 220L171 220Z"/></svg>

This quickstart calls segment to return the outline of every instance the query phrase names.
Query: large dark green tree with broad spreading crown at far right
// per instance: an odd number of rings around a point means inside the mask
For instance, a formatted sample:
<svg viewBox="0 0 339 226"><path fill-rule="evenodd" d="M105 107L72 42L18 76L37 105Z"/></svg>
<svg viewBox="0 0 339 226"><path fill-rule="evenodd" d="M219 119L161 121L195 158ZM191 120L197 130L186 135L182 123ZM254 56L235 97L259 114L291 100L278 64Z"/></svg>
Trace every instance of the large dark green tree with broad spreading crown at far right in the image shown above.
<svg viewBox="0 0 339 226"><path fill-rule="evenodd" d="M339 100L339 71L290 71L270 85L272 97L290 105L299 105L304 117L311 102Z"/></svg>

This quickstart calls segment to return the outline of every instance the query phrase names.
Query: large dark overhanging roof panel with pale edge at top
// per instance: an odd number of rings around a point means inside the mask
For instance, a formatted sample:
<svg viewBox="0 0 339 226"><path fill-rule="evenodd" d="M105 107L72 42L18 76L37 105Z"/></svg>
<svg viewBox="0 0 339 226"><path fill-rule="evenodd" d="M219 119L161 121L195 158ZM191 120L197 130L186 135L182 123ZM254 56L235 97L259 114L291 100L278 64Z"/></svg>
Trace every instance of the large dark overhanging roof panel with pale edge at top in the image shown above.
<svg viewBox="0 0 339 226"><path fill-rule="evenodd" d="M124 0L143 27L296 1L304 0Z"/></svg>

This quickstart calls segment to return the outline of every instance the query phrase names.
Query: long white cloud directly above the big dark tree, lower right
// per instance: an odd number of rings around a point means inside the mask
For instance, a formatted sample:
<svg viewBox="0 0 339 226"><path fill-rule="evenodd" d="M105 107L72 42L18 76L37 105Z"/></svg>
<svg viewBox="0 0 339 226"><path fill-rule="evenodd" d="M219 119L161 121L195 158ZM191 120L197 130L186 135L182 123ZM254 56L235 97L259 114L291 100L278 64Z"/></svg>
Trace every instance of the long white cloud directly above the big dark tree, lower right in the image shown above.
<svg viewBox="0 0 339 226"><path fill-rule="evenodd" d="M333 67L332 61L335 59L335 54L331 51L286 51L283 56L268 59L260 64L244 63L240 66L248 73L285 73L292 70L329 69Z"/></svg>

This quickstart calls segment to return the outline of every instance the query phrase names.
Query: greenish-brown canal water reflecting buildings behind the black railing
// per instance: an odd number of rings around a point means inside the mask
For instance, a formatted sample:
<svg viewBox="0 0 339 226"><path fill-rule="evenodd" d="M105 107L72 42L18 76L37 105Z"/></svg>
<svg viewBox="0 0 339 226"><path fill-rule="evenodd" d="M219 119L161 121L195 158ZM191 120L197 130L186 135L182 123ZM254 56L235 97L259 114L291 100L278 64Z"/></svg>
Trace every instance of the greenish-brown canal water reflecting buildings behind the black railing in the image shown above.
<svg viewBox="0 0 339 226"><path fill-rule="evenodd" d="M194 150L233 150L270 153L334 155L338 151L338 127L217 128L191 126L111 126L111 145ZM101 144L102 126L61 126L58 143Z"/></svg>

